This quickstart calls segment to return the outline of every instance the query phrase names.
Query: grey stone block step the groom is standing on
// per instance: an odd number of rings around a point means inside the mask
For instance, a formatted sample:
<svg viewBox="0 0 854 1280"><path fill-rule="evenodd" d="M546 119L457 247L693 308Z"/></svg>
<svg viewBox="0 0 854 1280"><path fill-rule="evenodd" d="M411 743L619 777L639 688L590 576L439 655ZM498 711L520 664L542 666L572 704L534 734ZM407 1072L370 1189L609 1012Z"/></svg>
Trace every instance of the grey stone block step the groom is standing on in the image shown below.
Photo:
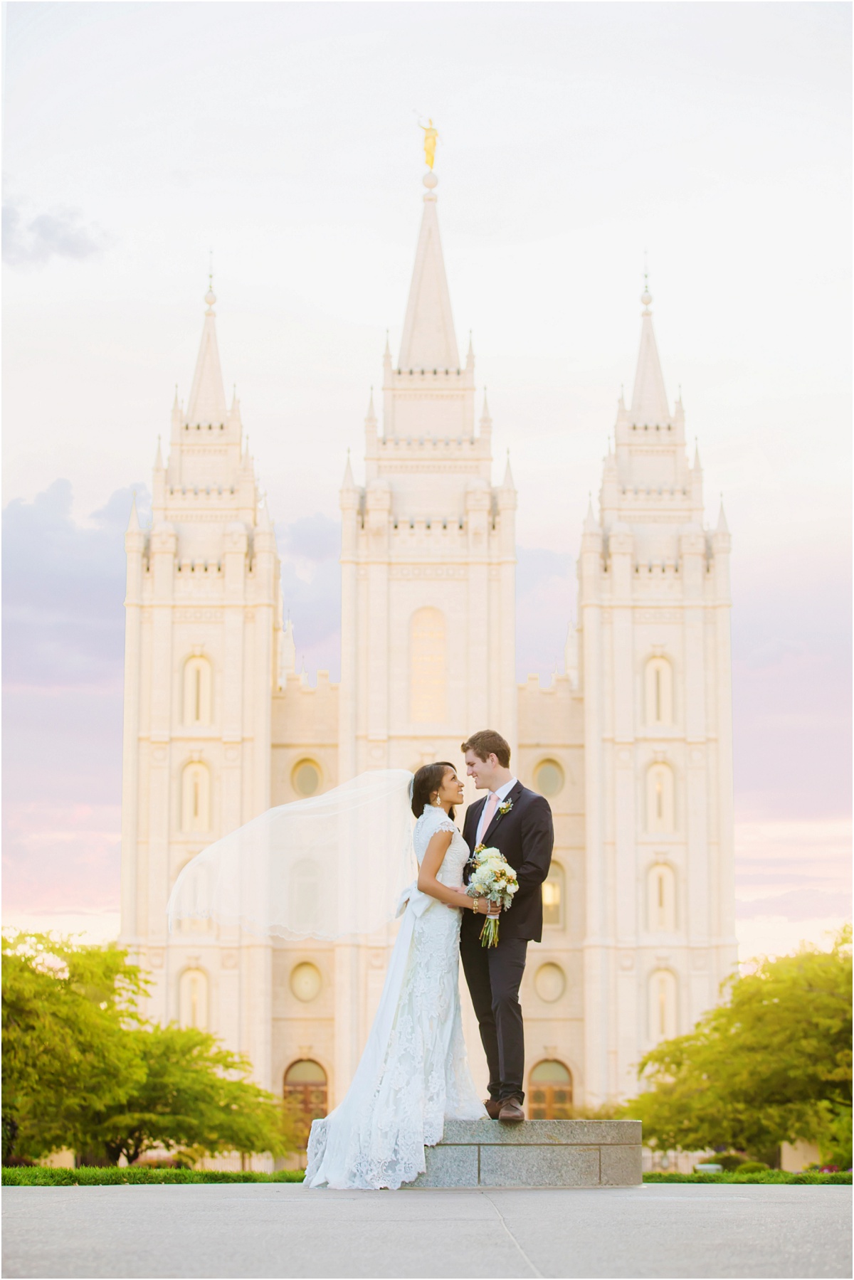
<svg viewBox="0 0 854 1280"><path fill-rule="evenodd" d="M419 1187L638 1187L640 1120L446 1120Z"/></svg>

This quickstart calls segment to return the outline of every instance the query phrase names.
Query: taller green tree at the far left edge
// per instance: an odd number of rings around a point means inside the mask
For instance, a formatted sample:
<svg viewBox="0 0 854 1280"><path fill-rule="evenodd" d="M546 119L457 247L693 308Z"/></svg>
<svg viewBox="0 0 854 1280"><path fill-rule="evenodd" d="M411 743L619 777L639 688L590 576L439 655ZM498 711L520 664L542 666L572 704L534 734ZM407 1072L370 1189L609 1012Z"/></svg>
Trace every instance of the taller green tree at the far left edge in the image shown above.
<svg viewBox="0 0 854 1280"><path fill-rule="evenodd" d="M86 1147L92 1111L143 1079L131 1028L145 989L118 947L3 938L3 1158Z"/></svg>

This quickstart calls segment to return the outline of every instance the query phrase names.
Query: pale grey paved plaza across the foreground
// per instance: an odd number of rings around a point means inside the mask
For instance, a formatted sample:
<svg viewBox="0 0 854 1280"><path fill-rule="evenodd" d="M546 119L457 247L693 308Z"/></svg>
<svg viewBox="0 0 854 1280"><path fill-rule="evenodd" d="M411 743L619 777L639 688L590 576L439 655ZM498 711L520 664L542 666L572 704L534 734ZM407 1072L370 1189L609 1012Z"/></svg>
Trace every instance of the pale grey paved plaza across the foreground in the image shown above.
<svg viewBox="0 0 854 1280"><path fill-rule="evenodd" d="M4 1276L850 1276L849 1187L4 1190Z"/></svg>

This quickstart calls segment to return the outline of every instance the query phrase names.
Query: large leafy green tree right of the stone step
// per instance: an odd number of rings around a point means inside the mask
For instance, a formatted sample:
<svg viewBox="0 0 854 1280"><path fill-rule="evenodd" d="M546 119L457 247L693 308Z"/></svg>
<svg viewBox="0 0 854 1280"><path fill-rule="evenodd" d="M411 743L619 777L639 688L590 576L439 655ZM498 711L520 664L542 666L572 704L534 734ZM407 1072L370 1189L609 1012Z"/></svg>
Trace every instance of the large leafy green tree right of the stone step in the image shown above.
<svg viewBox="0 0 854 1280"><path fill-rule="evenodd" d="M640 1062L647 1091L625 1114L658 1147L753 1155L817 1140L851 1162L851 931L831 951L763 960L730 980L725 1004Z"/></svg>

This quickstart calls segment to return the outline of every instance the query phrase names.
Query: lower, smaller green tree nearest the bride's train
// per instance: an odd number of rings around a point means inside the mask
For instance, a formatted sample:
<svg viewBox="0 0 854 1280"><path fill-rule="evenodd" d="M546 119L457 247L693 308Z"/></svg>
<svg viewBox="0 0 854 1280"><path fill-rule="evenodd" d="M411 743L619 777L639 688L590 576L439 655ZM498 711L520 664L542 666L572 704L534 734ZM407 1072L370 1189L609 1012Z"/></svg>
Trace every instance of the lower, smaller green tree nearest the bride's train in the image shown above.
<svg viewBox="0 0 854 1280"><path fill-rule="evenodd" d="M111 1162L133 1164L152 1147L196 1153L297 1147L283 1105L248 1079L250 1062L195 1028L140 1028L128 1033L145 1075L120 1105L91 1116L90 1137Z"/></svg>

